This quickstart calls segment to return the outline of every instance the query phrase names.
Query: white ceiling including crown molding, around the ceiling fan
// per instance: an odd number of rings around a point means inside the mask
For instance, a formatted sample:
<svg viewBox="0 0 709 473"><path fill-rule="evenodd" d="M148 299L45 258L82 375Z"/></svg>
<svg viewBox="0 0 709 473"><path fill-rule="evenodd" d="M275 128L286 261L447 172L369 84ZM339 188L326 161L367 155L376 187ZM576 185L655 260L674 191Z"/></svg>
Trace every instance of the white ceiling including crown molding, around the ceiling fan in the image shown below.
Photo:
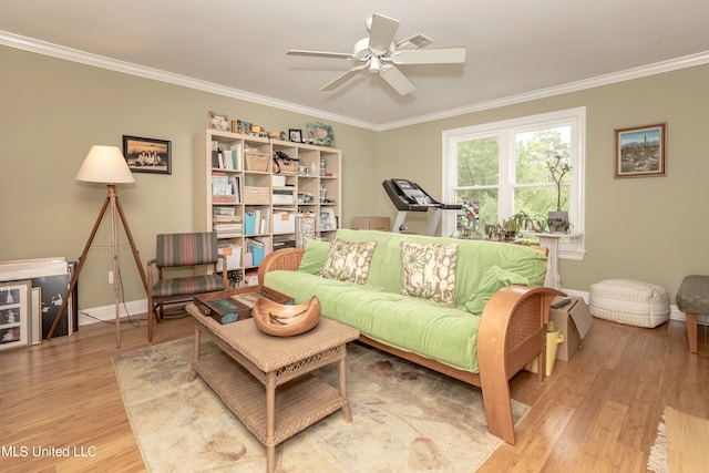
<svg viewBox="0 0 709 473"><path fill-rule="evenodd" d="M361 72L335 92L340 59L381 13L465 64L400 69L400 96ZM0 0L0 44L372 128L709 62L706 0ZM137 68L136 68L137 65Z"/></svg>

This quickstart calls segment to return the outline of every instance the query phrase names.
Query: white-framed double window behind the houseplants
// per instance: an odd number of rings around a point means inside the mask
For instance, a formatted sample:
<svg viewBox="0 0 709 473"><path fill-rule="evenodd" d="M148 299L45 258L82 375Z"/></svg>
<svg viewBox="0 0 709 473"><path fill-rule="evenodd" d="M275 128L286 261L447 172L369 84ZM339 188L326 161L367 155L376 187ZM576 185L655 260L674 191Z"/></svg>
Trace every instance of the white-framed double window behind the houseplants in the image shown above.
<svg viewBox="0 0 709 473"><path fill-rule="evenodd" d="M559 257L582 259L585 116L578 107L443 132L443 202L475 203L481 227L518 212L546 217L558 205L568 212L572 234L582 235L563 238ZM556 156L572 167L561 198L547 167ZM442 225L443 235L454 234L456 215L443 213Z"/></svg>

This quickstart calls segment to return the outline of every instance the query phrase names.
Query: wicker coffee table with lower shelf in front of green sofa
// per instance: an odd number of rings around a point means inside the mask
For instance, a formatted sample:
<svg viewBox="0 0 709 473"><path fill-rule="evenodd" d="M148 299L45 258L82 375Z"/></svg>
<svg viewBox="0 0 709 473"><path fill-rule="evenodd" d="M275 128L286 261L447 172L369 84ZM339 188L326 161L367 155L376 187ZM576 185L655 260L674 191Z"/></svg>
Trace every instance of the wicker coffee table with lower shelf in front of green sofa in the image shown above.
<svg viewBox="0 0 709 473"><path fill-rule="evenodd" d="M187 311L196 320L189 380L198 373L266 446L268 472L275 470L280 442L339 409L347 422L352 421L346 345L359 337L357 329L320 318L309 332L280 338L261 333L253 319L220 325L193 304ZM223 351L201 357L203 332ZM339 389L308 374L335 362L339 362Z"/></svg>

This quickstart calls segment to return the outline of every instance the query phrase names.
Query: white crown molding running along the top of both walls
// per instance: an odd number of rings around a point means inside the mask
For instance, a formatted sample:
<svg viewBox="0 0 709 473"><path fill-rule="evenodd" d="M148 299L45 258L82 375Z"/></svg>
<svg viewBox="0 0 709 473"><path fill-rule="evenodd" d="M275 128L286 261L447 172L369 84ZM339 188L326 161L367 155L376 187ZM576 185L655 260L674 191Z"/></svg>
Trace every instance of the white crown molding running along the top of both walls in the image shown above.
<svg viewBox="0 0 709 473"><path fill-rule="evenodd" d="M387 130L400 128L403 126L417 125L421 123L432 122L435 120L450 119L453 116L465 115L469 113L481 112L501 106L514 105L523 102L530 102L538 99L547 99L554 95L562 95L571 92L578 92L586 89L594 89L602 85L615 84L618 82L641 79L649 75L661 74L665 72L676 71L679 69L692 68L709 63L709 51L697 54L689 54L654 64L641 65L625 71L614 72L610 74L598 75L582 81L569 82L566 84L554 85L546 89L540 89L517 95L495 99L486 102L479 102L456 109L450 109L442 112L431 113L427 115L414 116L407 120L389 122L384 124L369 123L361 120L354 120L349 116L329 113L318 109L310 109L298 105L292 102L280 101L265 95L258 95L238 89L218 85L212 82L201 81L185 75L173 74L171 72L161 71L158 69L147 68L126 61L120 61L99 54L92 54L85 51L65 48L47 41L35 40L33 38L22 37L6 31L0 31L0 44L31 51L52 58L73 61L81 64L92 65L95 68L107 69L111 71L123 72L144 79L161 81L174 85L181 85L189 89L209 92L217 95L228 96L232 99L244 100L260 105L271 106L276 109L287 110L289 112L301 113L305 115L316 116L318 119L331 120L333 122L358 126L366 130L382 132Z"/></svg>

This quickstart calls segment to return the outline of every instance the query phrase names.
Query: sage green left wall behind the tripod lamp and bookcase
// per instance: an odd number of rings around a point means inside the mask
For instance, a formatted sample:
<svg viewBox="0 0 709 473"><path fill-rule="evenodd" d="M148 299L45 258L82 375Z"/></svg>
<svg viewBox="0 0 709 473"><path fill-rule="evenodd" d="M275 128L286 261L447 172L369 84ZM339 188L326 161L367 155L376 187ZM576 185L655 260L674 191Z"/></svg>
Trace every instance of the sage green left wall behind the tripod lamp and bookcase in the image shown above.
<svg viewBox="0 0 709 473"><path fill-rule="evenodd" d="M143 267L158 233L193 228L192 138L207 112L226 113L270 130L302 128L318 119L163 82L0 47L0 260L75 260L106 198L101 185L74 175L93 144L122 146L123 135L172 142L172 175L136 173L119 198ZM343 222L377 205L376 132L330 123L343 150ZM145 299L122 229L120 260L125 301ZM79 280L79 307L110 306L113 286L106 215Z"/></svg>

